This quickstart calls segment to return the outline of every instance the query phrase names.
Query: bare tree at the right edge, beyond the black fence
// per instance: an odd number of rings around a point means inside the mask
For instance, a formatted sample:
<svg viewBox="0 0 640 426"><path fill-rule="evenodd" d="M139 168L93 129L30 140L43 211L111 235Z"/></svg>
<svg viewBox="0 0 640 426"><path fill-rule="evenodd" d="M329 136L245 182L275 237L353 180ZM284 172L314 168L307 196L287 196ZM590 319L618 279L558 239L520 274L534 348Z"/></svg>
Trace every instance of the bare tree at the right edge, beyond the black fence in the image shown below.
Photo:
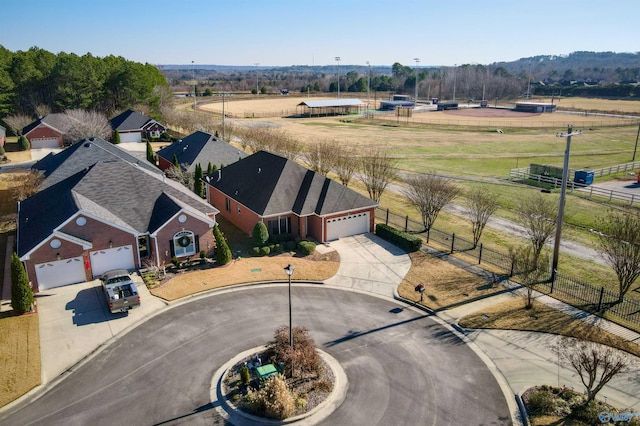
<svg viewBox="0 0 640 426"><path fill-rule="evenodd" d="M598 219L598 241L605 259L618 277L618 301L640 276L640 218L611 212Z"/></svg>

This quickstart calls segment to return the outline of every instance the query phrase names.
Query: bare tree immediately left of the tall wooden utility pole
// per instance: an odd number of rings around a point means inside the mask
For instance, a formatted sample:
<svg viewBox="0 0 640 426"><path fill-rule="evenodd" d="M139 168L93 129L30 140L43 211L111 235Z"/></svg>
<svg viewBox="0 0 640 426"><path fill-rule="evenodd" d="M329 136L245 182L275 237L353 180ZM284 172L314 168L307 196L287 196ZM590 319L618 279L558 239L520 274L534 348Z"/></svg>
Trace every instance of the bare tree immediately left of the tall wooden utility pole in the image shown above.
<svg viewBox="0 0 640 426"><path fill-rule="evenodd" d="M539 193L519 201L518 218L531 242L534 257L540 257L542 248L556 229L557 206Z"/></svg>

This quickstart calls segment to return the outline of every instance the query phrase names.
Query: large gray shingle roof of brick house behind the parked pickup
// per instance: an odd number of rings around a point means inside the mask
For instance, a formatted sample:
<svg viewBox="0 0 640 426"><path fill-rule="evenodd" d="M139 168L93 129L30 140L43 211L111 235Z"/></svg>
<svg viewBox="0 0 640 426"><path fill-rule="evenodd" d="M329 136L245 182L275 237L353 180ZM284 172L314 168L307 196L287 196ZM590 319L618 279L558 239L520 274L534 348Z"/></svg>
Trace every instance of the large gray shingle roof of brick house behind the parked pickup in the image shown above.
<svg viewBox="0 0 640 426"><path fill-rule="evenodd" d="M98 162L21 203L18 254L28 253L78 211L143 234L156 231L180 209L203 219L218 213L161 174L125 161Z"/></svg>

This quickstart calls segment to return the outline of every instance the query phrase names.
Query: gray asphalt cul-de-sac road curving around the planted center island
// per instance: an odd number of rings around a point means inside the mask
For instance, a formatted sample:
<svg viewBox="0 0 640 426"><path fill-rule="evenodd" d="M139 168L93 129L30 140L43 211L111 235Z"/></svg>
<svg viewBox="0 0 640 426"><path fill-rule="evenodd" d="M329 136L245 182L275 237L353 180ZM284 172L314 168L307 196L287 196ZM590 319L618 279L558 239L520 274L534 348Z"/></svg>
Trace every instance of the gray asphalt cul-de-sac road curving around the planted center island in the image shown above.
<svg viewBox="0 0 640 426"><path fill-rule="evenodd" d="M293 324L336 358L349 385L325 425L510 424L485 364L428 316L388 299L293 287ZM215 371L288 323L287 287L231 289L178 305L123 335L19 406L5 425L225 424Z"/></svg>

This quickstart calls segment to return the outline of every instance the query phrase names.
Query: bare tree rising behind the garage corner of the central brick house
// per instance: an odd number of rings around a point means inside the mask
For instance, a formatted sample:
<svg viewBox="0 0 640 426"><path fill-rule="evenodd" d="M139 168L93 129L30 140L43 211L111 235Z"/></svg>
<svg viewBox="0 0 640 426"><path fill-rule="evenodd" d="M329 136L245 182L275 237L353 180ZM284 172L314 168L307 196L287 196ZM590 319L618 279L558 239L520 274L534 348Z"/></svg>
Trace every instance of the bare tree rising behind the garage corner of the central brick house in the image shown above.
<svg viewBox="0 0 640 426"><path fill-rule="evenodd" d="M398 177L396 164L397 160L391 157L389 151L381 148L372 148L360 157L358 178L367 188L369 198L376 203L380 202L387 186Z"/></svg>

